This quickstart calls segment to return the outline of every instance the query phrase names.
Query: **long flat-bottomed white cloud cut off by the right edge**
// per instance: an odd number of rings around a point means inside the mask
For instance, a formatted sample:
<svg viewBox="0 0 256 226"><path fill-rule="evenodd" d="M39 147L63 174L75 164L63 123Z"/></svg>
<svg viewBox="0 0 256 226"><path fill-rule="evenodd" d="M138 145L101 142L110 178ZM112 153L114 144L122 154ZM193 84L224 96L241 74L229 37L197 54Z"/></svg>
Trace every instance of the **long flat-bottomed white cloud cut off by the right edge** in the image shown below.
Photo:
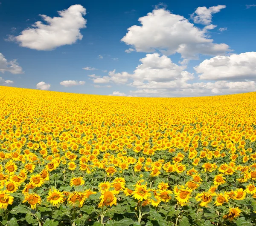
<svg viewBox="0 0 256 226"><path fill-rule="evenodd" d="M204 80L256 79L256 52L216 56L194 69Z"/></svg>

